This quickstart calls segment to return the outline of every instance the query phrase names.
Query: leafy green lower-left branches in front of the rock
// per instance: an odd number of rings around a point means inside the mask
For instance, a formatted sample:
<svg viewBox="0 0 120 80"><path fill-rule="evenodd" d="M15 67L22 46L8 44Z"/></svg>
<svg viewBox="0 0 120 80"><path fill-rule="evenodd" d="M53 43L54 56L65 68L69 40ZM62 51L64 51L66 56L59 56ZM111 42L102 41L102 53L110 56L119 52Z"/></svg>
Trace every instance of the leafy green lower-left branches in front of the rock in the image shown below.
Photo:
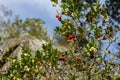
<svg viewBox="0 0 120 80"><path fill-rule="evenodd" d="M52 44L46 44L42 46L43 50L36 51L35 57L31 56L31 50L22 47L21 60L17 58L12 58L13 65L10 68L6 76L0 76L8 80L16 79L42 79L47 77L47 75L53 79L56 79L56 73L61 71L58 69L60 66L60 56L66 55L66 52L60 52L52 47ZM61 63L64 61L61 61ZM66 64L63 63L64 66ZM57 74L59 74L59 72ZM60 76L62 78L62 76Z"/></svg>

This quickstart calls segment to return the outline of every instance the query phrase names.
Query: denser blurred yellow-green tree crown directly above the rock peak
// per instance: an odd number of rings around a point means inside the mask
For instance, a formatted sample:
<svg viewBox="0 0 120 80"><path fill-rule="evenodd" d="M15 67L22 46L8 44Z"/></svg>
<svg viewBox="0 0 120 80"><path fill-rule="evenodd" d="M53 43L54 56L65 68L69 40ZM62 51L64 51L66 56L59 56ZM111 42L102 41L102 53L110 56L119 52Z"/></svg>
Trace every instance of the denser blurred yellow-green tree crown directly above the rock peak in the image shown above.
<svg viewBox="0 0 120 80"><path fill-rule="evenodd" d="M47 29L43 28L43 24L43 21L36 18L27 18L25 21L16 18L16 20L12 22L11 25L7 26L4 31L7 32L6 35L8 35L8 38L17 37L27 32L39 39L48 40Z"/></svg>

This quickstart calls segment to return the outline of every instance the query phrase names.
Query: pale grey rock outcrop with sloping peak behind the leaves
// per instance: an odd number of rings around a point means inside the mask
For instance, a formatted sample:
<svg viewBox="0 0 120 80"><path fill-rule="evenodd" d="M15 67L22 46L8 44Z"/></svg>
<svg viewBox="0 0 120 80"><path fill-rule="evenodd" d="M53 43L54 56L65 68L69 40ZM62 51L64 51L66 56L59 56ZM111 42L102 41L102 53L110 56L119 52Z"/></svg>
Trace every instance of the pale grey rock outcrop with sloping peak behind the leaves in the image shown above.
<svg viewBox="0 0 120 80"><path fill-rule="evenodd" d="M14 38L6 41L3 44L3 50L0 52L0 74L6 74L11 66L11 61L4 62L4 57L17 57L18 60L21 59L22 46L31 49L31 55L34 56L34 53L37 50L42 50L42 45L47 44L45 40L39 40L28 33L21 35L18 38ZM64 47L53 46L54 48L59 49L60 51L67 50ZM3 61L3 62L2 62Z"/></svg>

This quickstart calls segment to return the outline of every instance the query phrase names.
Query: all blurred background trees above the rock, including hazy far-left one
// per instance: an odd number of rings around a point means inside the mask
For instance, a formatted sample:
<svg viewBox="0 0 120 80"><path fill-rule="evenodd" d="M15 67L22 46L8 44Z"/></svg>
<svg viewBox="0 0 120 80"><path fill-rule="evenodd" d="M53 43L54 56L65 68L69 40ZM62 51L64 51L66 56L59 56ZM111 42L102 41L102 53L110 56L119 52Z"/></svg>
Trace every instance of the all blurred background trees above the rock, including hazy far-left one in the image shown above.
<svg viewBox="0 0 120 80"><path fill-rule="evenodd" d="M44 22L38 18L26 18L22 20L19 16L12 14L4 5L0 5L0 38L1 42L15 38L24 33L29 33L38 39L48 41L47 29L44 28ZM14 16L12 16L14 15Z"/></svg>

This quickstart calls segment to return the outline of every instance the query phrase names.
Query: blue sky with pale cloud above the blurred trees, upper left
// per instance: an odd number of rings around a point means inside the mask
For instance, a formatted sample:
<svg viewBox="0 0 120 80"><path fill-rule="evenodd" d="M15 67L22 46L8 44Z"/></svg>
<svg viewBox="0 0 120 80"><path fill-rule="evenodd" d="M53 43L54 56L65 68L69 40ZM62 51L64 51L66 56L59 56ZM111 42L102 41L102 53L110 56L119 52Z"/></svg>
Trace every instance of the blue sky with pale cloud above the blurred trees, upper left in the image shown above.
<svg viewBox="0 0 120 80"><path fill-rule="evenodd" d="M48 29L48 35L60 24L55 17L59 8L53 7L51 0L0 0L0 4L4 4L23 20L40 18L45 22L44 27Z"/></svg>

